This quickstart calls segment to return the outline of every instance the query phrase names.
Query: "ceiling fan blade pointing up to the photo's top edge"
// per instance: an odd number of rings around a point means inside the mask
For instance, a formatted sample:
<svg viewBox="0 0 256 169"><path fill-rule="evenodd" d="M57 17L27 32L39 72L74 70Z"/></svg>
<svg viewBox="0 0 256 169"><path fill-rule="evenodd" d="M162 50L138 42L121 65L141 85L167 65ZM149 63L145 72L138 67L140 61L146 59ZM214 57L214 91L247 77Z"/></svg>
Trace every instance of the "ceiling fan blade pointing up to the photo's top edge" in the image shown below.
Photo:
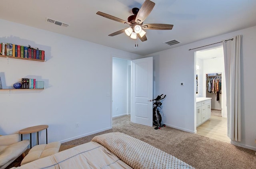
<svg viewBox="0 0 256 169"><path fill-rule="evenodd" d="M142 22L148 17L152 9L154 8L155 3L150 0L145 0L145 2L140 7L140 10L136 16L135 22L142 24Z"/></svg>

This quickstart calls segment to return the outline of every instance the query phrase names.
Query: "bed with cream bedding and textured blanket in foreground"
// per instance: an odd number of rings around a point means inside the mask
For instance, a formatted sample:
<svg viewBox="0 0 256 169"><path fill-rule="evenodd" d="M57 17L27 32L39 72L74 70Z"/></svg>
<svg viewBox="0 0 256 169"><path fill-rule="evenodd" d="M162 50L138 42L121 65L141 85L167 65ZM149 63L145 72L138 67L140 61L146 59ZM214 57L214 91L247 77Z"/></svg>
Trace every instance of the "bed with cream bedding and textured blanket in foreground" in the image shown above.
<svg viewBox="0 0 256 169"><path fill-rule="evenodd" d="M12 169L194 169L176 157L120 132Z"/></svg>

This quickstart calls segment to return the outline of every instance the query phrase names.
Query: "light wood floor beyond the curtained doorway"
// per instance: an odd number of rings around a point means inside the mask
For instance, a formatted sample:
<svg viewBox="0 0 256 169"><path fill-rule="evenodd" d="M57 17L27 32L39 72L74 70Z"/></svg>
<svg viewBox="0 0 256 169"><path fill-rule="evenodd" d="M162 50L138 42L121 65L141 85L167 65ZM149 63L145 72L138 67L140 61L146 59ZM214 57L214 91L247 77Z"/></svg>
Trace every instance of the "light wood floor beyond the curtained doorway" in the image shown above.
<svg viewBox="0 0 256 169"><path fill-rule="evenodd" d="M216 140L230 143L230 139L227 136L227 119L211 116L209 120L201 124L196 128L197 133L201 136L206 136Z"/></svg>

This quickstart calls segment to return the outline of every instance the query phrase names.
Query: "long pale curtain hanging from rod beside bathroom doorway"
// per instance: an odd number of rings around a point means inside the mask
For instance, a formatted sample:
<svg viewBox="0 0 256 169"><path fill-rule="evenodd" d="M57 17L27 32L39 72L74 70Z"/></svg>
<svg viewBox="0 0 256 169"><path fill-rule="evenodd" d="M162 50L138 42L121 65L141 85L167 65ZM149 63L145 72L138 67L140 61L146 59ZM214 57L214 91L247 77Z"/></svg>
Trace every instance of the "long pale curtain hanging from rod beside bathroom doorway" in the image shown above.
<svg viewBox="0 0 256 169"><path fill-rule="evenodd" d="M228 137L241 141L240 53L242 35L223 41L226 76Z"/></svg>

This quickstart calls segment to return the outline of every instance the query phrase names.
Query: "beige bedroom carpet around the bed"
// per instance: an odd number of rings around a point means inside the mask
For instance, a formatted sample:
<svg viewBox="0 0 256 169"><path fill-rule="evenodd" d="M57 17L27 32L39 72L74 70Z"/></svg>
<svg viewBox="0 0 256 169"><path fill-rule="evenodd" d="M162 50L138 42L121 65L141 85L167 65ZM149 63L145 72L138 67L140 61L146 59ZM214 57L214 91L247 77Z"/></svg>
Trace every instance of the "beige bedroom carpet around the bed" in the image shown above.
<svg viewBox="0 0 256 169"><path fill-rule="evenodd" d="M170 127L154 130L131 123L130 116L113 118L112 130L62 143L60 151L108 132L123 132L145 141L196 169L256 169L255 151Z"/></svg>

